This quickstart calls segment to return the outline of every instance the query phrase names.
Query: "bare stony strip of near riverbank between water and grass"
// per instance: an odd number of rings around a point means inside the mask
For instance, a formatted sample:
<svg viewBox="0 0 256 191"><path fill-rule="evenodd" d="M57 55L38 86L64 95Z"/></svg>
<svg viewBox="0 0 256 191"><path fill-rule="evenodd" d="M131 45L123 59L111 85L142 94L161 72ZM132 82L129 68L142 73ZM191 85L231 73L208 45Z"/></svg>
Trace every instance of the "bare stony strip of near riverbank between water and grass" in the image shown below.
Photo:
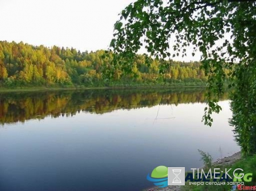
<svg viewBox="0 0 256 191"><path fill-rule="evenodd" d="M255 157L256 158L256 157ZM213 167L229 167L230 165L236 164L241 159L241 152L236 152L233 155L226 156L222 159L217 159L216 162L213 163ZM241 167L240 167L241 168ZM197 187L195 187L196 190ZM148 188L143 191L181 191L181 190L194 190L191 186L168 186L166 188Z"/></svg>

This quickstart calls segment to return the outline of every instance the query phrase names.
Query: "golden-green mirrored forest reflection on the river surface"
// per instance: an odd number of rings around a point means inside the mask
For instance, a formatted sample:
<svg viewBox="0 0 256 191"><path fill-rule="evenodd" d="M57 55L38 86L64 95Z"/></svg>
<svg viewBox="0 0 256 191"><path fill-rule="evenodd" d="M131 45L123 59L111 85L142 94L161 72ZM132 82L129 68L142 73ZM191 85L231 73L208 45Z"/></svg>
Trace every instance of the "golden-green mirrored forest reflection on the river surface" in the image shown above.
<svg viewBox="0 0 256 191"><path fill-rule="evenodd" d="M115 109L153 107L158 104L203 103L205 90L83 90L0 94L0 123L24 122L47 116L73 116L77 112L103 114ZM227 99L224 94L222 99Z"/></svg>

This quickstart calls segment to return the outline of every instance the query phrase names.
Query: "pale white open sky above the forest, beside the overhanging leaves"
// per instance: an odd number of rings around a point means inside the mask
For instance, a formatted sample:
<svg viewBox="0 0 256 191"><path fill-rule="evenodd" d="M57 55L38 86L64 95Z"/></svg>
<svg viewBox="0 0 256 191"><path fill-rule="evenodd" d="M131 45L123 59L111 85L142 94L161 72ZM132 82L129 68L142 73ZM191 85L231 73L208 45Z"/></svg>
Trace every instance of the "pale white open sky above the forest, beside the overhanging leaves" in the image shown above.
<svg viewBox="0 0 256 191"><path fill-rule="evenodd" d="M118 14L135 0L0 0L0 40L108 49ZM200 55L175 60L199 60Z"/></svg>

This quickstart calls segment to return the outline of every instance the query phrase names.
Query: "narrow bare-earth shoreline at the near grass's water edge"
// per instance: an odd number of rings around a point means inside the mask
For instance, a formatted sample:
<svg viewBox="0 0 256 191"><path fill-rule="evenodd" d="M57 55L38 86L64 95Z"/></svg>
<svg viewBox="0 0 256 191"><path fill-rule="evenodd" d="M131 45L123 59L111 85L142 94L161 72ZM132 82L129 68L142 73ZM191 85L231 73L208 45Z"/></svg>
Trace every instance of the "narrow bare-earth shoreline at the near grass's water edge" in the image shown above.
<svg viewBox="0 0 256 191"><path fill-rule="evenodd" d="M217 165L225 166L225 165L232 165L238 160L241 159L241 151L234 153L230 156L225 156L224 158L217 159L213 162L213 167ZM182 186L167 186L166 188L157 188L156 186L151 188L143 189L142 191L180 191L182 190Z"/></svg>

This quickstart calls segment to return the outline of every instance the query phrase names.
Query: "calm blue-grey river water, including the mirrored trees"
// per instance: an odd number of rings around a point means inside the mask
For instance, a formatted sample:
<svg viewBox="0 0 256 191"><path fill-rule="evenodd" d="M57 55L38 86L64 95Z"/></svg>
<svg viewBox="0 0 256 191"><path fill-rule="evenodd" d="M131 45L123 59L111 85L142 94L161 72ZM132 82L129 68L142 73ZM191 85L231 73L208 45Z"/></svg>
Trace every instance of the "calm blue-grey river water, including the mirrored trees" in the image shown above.
<svg viewBox="0 0 256 191"><path fill-rule="evenodd" d="M0 190L141 190L158 165L239 151L229 101L201 122L203 90L0 94Z"/></svg>

